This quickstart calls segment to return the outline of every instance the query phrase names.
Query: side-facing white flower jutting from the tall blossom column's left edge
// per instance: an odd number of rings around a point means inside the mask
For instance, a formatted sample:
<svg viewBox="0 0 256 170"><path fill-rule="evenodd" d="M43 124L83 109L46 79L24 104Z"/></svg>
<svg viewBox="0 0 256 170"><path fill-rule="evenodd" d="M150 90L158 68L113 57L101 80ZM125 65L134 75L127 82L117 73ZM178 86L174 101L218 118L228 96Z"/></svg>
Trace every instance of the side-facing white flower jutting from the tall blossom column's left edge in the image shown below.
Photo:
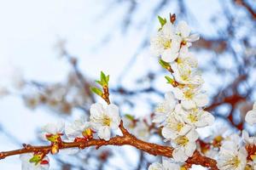
<svg viewBox="0 0 256 170"><path fill-rule="evenodd" d="M174 95L171 92L166 93L164 102L160 103L160 105L157 105L155 108L155 116L153 122L164 122L166 117L174 110L176 103L177 100L174 98Z"/></svg>

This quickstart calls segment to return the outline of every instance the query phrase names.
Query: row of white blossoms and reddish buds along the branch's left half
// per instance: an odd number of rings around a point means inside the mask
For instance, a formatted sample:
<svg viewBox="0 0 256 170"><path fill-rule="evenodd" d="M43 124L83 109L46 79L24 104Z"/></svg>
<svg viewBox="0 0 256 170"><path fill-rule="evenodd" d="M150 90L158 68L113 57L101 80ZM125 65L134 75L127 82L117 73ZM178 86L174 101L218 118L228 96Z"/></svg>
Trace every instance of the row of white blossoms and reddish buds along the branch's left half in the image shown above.
<svg viewBox="0 0 256 170"><path fill-rule="evenodd" d="M51 154L59 152L62 142L88 141L96 138L109 140L111 131L119 128L120 117L117 105L107 105L101 103L90 106L90 118L81 117L73 123L55 122L42 127L41 138L51 144ZM74 154L79 150L66 149L67 153ZM49 169L49 158L45 153L20 155L22 169L26 170L47 170Z"/></svg>

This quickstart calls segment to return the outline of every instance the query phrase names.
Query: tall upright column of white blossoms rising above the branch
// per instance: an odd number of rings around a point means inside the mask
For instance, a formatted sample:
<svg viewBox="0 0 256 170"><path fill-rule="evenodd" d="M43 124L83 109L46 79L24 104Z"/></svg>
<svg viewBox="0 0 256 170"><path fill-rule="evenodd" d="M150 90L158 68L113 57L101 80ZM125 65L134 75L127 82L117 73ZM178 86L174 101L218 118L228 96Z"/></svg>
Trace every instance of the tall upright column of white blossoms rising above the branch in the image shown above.
<svg viewBox="0 0 256 170"><path fill-rule="evenodd" d="M161 133L166 141L171 141L174 161L184 162L196 149L196 128L212 125L214 117L204 111L208 103L207 94L201 90L204 81L197 69L197 59L189 52L192 42L199 36L190 34L185 21L175 26L171 21L160 18L160 23L160 30L151 39L151 48L166 69L171 71L172 77L168 77L167 81L172 86L165 100L156 107L153 122L162 127ZM166 168L153 164L149 169Z"/></svg>

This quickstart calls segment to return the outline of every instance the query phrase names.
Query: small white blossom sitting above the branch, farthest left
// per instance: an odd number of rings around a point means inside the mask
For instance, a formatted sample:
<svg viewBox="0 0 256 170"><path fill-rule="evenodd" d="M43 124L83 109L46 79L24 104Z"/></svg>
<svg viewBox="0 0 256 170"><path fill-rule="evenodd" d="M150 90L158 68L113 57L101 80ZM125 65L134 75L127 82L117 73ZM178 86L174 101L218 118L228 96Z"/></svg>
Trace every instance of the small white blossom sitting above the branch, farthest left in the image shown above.
<svg viewBox="0 0 256 170"><path fill-rule="evenodd" d="M41 137L44 140L49 140L49 136L60 137L63 134L64 127L65 127L64 122L48 123L47 125L42 127ZM51 141L51 142L57 142L57 141Z"/></svg>

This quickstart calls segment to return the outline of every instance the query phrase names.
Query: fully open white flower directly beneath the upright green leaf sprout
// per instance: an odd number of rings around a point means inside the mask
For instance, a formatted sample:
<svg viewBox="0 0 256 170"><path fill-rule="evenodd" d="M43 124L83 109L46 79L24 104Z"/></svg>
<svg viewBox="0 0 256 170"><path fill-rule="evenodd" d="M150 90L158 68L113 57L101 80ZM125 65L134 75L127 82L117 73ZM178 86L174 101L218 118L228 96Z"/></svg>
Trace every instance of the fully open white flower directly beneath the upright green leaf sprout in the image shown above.
<svg viewBox="0 0 256 170"><path fill-rule="evenodd" d="M100 103L91 105L90 122L100 139L109 140L111 129L118 129L120 124L118 106L110 104L104 108Z"/></svg>

